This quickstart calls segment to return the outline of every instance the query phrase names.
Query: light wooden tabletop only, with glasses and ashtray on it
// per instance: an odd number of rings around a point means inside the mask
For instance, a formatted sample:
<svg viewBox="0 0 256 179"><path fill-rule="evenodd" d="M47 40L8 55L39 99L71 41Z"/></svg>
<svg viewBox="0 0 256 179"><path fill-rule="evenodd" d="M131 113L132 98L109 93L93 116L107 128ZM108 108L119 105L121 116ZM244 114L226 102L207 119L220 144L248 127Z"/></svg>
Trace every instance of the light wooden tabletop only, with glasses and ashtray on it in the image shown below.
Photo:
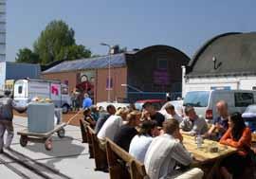
<svg viewBox="0 0 256 179"><path fill-rule="evenodd" d="M195 143L194 136L183 134L183 145L185 148L192 152L196 161L200 163L209 162L216 160L221 157L225 157L231 153L237 152L237 149L231 148L229 146L222 145L216 141L209 139L204 139L202 147L197 149L197 144ZM210 152L210 147L218 147L218 152Z"/></svg>

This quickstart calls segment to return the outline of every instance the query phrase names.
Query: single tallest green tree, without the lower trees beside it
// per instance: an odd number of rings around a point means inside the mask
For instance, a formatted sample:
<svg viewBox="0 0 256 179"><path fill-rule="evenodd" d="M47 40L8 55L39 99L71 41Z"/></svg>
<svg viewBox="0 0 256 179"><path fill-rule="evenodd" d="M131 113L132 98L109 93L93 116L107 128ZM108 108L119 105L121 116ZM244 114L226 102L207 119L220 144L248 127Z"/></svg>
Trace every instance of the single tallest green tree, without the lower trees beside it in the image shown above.
<svg viewBox="0 0 256 179"><path fill-rule="evenodd" d="M41 63L57 61L64 47L75 45L75 32L63 21L52 21L41 32L40 37L34 43L34 51L41 59Z"/></svg>

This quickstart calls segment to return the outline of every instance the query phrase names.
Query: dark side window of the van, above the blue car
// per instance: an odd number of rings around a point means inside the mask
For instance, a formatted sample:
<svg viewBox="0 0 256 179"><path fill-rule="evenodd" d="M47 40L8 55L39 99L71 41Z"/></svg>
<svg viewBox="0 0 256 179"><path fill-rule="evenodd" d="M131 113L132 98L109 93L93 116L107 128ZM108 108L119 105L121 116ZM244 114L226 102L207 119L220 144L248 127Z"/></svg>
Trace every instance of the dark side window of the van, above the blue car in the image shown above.
<svg viewBox="0 0 256 179"><path fill-rule="evenodd" d="M247 107L254 103L254 98L252 93L235 93L235 106L236 107Z"/></svg>

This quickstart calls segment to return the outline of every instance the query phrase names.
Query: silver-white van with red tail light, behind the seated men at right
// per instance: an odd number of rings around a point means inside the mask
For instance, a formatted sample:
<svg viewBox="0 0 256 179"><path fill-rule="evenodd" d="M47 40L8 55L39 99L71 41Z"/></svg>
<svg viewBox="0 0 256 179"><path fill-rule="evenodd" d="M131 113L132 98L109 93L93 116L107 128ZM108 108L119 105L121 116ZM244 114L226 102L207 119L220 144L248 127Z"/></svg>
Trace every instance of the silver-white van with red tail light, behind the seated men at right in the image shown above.
<svg viewBox="0 0 256 179"><path fill-rule="evenodd" d="M184 98L183 106L193 106L197 115L210 120L217 116L216 103L225 100L229 113L244 113L247 106L255 103L256 91L251 90L209 90L191 91Z"/></svg>

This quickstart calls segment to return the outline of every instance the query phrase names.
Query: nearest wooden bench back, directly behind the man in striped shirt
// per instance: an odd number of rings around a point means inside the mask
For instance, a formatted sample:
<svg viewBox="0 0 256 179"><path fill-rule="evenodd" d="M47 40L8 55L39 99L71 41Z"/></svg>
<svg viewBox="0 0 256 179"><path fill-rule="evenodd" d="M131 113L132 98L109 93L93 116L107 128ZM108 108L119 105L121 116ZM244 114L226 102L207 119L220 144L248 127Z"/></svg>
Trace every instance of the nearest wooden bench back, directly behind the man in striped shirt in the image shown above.
<svg viewBox="0 0 256 179"><path fill-rule="evenodd" d="M109 138L106 139L106 152L111 179L149 178L144 165Z"/></svg>

